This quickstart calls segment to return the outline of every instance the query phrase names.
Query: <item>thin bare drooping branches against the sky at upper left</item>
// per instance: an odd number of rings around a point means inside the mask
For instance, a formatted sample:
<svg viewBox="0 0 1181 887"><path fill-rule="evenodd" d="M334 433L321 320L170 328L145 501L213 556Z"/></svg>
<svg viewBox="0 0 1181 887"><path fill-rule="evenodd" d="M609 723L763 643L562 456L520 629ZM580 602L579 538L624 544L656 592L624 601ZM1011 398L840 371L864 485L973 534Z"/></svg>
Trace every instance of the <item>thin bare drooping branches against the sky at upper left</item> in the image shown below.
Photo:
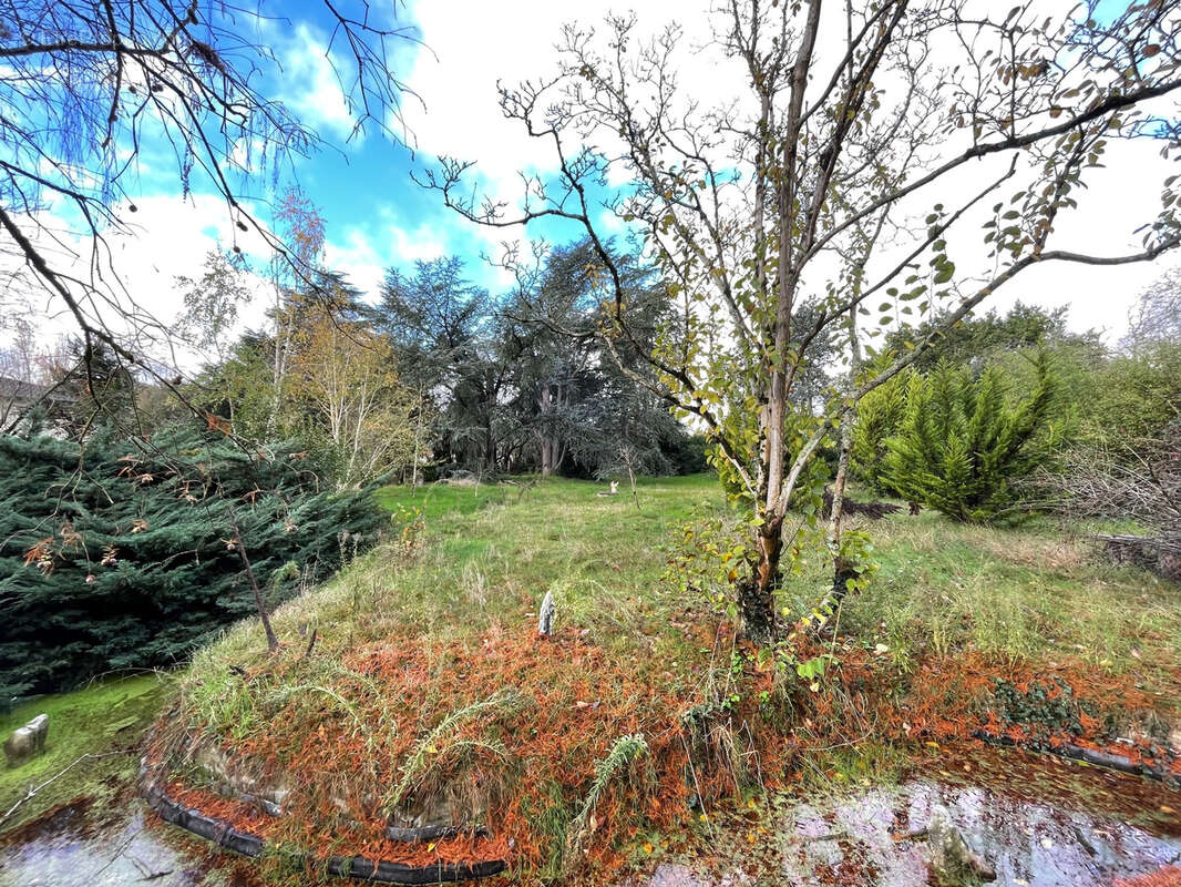
<svg viewBox="0 0 1181 887"><path fill-rule="evenodd" d="M397 135L390 128L407 92L390 60L413 32L394 20L396 8L322 5L333 28L324 51L354 134ZM174 154L178 190L220 195L240 231L255 231L304 273L299 251L255 220L243 198L250 173L325 144L266 91L281 82L266 30L288 25L249 4L0 0L6 268L72 316L87 351L104 343L177 394L172 374L135 341L167 342L169 330L120 285L107 238L132 229L132 182L150 147Z"/></svg>

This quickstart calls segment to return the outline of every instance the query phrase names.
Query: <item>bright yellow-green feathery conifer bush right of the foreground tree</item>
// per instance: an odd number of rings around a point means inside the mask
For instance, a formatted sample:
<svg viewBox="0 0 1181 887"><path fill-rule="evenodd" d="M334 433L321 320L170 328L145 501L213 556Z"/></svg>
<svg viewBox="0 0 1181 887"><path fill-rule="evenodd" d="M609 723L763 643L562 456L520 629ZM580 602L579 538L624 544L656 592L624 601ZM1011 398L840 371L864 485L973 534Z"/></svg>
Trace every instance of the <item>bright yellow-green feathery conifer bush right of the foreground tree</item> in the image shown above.
<svg viewBox="0 0 1181 887"><path fill-rule="evenodd" d="M1017 481L1045 465L1061 444L1050 357L1035 360L1036 386L1013 403L996 365L979 377L940 364L914 375L906 416L889 440L886 479L905 498L972 523L1022 517Z"/></svg>

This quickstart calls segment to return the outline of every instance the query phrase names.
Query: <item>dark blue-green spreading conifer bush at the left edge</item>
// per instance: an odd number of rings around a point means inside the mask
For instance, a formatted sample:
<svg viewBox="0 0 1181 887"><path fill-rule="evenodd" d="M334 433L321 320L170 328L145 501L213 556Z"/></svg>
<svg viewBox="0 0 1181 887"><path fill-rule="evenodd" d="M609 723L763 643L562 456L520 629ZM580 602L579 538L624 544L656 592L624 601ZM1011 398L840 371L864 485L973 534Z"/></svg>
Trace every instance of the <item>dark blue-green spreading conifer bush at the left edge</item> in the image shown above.
<svg viewBox="0 0 1181 887"><path fill-rule="evenodd" d="M273 606L372 544L371 491L321 487L301 453L223 438L0 436L0 687L54 692L115 669L171 666L252 615L226 504Z"/></svg>

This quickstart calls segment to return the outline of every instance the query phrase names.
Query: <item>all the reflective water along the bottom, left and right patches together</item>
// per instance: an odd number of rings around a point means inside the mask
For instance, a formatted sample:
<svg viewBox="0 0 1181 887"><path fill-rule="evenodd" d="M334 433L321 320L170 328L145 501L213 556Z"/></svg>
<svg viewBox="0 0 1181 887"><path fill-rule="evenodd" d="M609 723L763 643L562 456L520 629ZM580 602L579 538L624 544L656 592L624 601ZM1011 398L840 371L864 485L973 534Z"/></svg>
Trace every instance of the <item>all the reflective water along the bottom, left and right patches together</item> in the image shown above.
<svg viewBox="0 0 1181 887"><path fill-rule="evenodd" d="M680 857L635 887L922 887L921 831L944 805L1005 887L1111 887L1181 862L1181 792L1019 752L940 750L898 785L776 796L712 811ZM164 826L138 799L85 804L0 839L0 887L256 887L254 862Z"/></svg>

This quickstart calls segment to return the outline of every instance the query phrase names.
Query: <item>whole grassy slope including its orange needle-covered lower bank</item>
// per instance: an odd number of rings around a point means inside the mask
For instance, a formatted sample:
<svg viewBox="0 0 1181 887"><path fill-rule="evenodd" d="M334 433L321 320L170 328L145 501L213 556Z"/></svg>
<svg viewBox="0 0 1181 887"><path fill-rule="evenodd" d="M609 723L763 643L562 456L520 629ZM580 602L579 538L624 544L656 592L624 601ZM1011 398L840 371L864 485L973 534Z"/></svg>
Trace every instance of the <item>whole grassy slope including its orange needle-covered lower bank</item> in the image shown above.
<svg viewBox="0 0 1181 887"><path fill-rule="evenodd" d="M967 734L979 700L966 697L998 675L1026 681L1069 660L1066 679L1104 673L1104 700L1135 689L1136 705L1176 687L1176 587L1092 563L1049 525L988 530L924 513L867 525L881 570L840 614L830 649L840 645L842 665L809 692L794 666L737 642L700 590L664 578L679 538L670 529L726 512L716 480L647 480L639 509L602 488L383 491L393 540L281 607L279 655L253 622L202 650L172 738L184 727L298 772L296 815L252 820L274 840L406 862L508 855L549 878L585 861L570 848L588 835L601 854L634 837L634 823L697 821L703 803L774 785L808 749L867 730L882 742L913 738L912 726ZM809 556L781 603L807 611L828 569ZM535 636L547 591L550 640ZM972 672L959 682L958 661ZM907 693L903 717L894 706ZM607 764L624 746L644 751L615 772ZM406 798L464 785L478 786L471 809L495 812L492 837L429 849L380 839ZM579 814L587 798L593 822ZM357 824L332 826L342 811Z"/></svg>

